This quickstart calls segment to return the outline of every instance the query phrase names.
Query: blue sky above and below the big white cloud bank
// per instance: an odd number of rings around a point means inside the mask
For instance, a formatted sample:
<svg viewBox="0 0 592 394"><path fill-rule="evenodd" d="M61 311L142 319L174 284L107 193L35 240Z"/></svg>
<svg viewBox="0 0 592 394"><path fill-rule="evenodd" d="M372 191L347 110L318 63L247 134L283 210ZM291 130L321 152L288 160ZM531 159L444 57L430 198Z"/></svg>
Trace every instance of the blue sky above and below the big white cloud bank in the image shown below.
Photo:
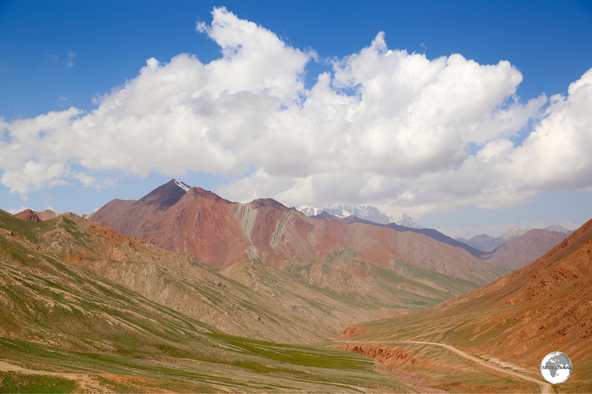
<svg viewBox="0 0 592 394"><path fill-rule="evenodd" d="M305 67L306 88L316 84L319 73L332 70L332 59L358 53L379 31L384 31L389 49L424 53L427 59L460 53L481 65L508 60L523 77L516 89L520 103L543 92L547 97L567 94L568 85L592 67L589 1L4 1L0 3L0 117L12 123L69 107L94 110L98 107L94 97L135 78L151 57L169 62L179 53L189 53L204 64L217 59L220 46L208 34L196 31L195 24L211 23L210 13L218 6L262 25L291 47L314 50L317 60ZM531 123L511 136L514 144L522 143L532 130ZM480 149L468 146L472 154ZM72 163L72 168L78 166ZM91 173L114 179L115 184L97 190L72 181L28 191L26 201L0 185L0 207L41 210L51 206L58 212L87 213L111 198L139 198L172 178L157 171L147 177L112 169ZM189 171L177 178L216 189L233 187L232 181L244 174L250 172ZM590 192L571 191L581 190L581 185L540 188L518 204L495 209L478 209L469 203L411 212L424 226L466 228L465 235L484 226L498 231L493 225L500 229L535 222L580 225L592 217L587 203ZM396 210L405 213L400 206Z"/></svg>

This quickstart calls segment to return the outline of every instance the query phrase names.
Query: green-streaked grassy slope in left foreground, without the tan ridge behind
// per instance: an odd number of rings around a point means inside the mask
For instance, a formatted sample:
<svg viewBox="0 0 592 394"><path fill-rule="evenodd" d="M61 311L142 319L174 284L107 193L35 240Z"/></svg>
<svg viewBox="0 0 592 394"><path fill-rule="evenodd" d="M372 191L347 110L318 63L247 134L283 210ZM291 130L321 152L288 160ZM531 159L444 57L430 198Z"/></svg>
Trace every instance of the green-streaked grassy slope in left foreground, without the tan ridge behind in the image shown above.
<svg viewBox="0 0 592 394"><path fill-rule="evenodd" d="M409 390L361 355L223 334L81 267L76 245L108 249L73 219L1 227L2 392Z"/></svg>

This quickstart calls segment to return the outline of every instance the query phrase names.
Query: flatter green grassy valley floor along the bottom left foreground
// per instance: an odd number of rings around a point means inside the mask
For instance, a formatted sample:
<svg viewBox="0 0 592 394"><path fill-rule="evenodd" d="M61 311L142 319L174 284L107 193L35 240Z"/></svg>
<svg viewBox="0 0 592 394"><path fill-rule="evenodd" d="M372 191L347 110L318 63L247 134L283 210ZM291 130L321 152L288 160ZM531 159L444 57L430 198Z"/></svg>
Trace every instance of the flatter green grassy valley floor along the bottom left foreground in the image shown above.
<svg viewBox="0 0 592 394"><path fill-rule="evenodd" d="M0 392L412 392L358 354L220 337L234 363L197 354L129 357L66 351L0 337ZM239 352L239 350L242 350ZM179 350L177 350L179 351ZM176 356L176 357L175 357Z"/></svg>

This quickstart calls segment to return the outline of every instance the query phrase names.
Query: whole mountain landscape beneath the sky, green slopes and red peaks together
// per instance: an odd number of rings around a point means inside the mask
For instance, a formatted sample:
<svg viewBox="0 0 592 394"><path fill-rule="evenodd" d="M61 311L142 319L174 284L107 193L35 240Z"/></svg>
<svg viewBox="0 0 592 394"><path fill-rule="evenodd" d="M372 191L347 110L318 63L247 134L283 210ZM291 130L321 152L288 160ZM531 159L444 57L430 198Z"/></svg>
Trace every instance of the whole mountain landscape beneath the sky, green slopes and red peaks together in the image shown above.
<svg viewBox="0 0 592 394"><path fill-rule="evenodd" d="M479 251L435 229L309 217L176 180L85 217L0 210L0 388L538 390L403 340L531 375L565 350L581 368L556 387L582 390L592 220L567 239L551 230Z"/></svg>

